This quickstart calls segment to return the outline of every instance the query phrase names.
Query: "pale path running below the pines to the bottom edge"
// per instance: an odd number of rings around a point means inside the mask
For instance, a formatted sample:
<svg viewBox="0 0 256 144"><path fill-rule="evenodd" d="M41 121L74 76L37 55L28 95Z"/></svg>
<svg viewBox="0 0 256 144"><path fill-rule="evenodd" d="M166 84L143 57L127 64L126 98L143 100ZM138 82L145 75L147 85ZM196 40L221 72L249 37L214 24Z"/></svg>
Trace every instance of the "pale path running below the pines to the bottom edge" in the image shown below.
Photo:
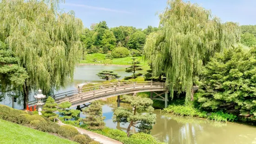
<svg viewBox="0 0 256 144"><path fill-rule="evenodd" d="M64 124L62 123L59 119L58 119L58 124L59 125L68 125L68 124ZM81 134L87 134L89 137L93 138L94 140L102 143L102 144L123 144L117 140L114 140L112 138L109 137L105 137L103 135L100 135L98 133L94 133L92 131L87 131L78 127L73 126L74 128L76 128Z"/></svg>

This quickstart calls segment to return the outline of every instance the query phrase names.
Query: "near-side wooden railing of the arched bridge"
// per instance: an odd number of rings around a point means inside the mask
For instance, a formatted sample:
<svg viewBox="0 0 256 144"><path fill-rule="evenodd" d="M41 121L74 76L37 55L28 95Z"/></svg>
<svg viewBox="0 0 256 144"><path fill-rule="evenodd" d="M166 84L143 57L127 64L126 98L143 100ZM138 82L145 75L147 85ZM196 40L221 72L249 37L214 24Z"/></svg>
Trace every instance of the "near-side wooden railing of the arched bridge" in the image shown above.
<svg viewBox="0 0 256 144"><path fill-rule="evenodd" d="M110 86L110 85L108 85ZM93 86L92 86L93 87ZM150 87L165 87L164 83L151 83L151 82L139 82L139 83L129 83L129 84L125 84L125 85L120 85L120 86L115 86L112 85L112 87L107 87L104 89L95 89L95 87L93 88L93 91L87 91L87 92L80 92L79 95L76 96L72 96L69 98L59 98L56 99L57 103L62 103L65 101L69 101L72 103L78 102L81 99L86 99L86 98L97 98L97 97L101 97L102 95L105 95L106 93L110 93L110 92L116 92L116 91L129 91L129 90L133 90L133 89L143 89L143 88L150 88ZM92 88L90 88L89 90L92 90Z"/></svg>

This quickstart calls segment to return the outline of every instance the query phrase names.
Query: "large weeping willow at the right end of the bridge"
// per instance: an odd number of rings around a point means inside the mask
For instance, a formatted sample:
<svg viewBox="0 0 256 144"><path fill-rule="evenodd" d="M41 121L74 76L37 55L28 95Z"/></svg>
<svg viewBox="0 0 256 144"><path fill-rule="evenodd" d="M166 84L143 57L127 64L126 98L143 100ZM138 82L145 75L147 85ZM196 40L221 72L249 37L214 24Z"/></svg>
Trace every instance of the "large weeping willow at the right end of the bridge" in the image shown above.
<svg viewBox="0 0 256 144"><path fill-rule="evenodd" d="M144 59L153 75L164 71L173 98L174 89L193 100L193 79L215 52L239 40L236 23L222 23L209 10L182 0L168 0L159 15L160 30L151 33L144 46Z"/></svg>

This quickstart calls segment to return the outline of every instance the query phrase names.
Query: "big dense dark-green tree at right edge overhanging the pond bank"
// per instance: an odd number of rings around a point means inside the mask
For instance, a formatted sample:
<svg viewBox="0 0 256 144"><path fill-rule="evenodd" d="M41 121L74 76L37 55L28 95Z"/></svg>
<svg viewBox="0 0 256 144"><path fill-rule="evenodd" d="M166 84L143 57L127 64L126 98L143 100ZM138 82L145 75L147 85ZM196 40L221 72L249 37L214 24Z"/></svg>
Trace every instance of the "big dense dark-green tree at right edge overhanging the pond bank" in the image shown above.
<svg viewBox="0 0 256 144"><path fill-rule="evenodd" d="M198 102L201 109L233 113L256 120L256 48L241 47L217 53L201 74Z"/></svg>

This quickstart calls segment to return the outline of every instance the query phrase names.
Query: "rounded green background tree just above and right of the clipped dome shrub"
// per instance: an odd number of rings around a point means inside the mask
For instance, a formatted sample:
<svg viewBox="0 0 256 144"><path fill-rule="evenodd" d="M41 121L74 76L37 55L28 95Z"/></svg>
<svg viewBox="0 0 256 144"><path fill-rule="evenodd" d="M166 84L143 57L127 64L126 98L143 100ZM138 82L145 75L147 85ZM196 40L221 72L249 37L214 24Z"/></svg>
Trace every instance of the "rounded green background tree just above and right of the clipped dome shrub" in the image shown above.
<svg viewBox="0 0 256 144"><path fill-rule="evenodd" d="M145 44L146 34L138 31L133 33L127 43L129 49L142 50Z"/></svg>

